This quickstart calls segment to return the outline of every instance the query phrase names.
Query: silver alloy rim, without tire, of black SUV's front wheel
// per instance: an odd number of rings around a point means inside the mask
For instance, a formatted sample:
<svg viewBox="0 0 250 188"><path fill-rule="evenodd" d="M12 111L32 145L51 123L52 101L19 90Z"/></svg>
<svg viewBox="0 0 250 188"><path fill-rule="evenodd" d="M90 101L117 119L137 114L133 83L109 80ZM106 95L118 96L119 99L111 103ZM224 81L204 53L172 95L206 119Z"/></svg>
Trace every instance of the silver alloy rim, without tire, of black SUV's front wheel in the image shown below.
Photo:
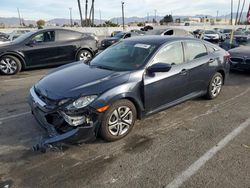
<svg viewBox="0 0 250 188"><path fill-rule="evenodd" d="M17 62L9 57L0 60L0 69L5 74L13 74L17 70Z"/></svg>

